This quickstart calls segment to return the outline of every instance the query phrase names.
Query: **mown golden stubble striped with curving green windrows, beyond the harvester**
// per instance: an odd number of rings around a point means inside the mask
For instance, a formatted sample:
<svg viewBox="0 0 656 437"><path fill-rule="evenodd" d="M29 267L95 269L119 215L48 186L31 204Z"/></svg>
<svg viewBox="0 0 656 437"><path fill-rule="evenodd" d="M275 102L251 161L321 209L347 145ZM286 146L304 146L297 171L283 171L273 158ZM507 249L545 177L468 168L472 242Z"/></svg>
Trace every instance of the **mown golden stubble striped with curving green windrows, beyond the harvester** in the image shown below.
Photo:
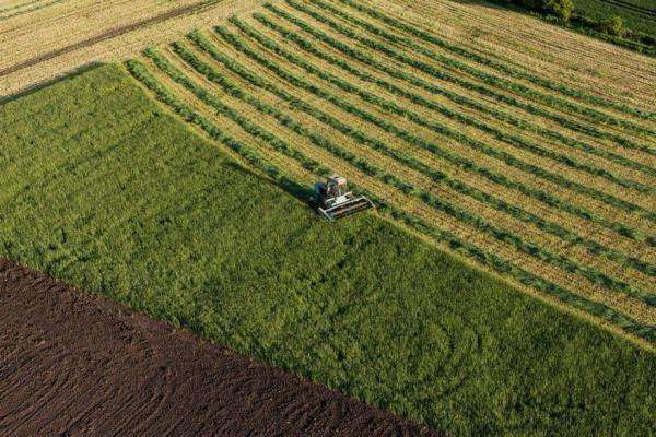
<svg viewBox="0 0 656 437"><path fill-rule="evenodd" d="M656 340L653 107L353 0L267 4L127 67L254 168L342 174L437 246Z"/></svg>

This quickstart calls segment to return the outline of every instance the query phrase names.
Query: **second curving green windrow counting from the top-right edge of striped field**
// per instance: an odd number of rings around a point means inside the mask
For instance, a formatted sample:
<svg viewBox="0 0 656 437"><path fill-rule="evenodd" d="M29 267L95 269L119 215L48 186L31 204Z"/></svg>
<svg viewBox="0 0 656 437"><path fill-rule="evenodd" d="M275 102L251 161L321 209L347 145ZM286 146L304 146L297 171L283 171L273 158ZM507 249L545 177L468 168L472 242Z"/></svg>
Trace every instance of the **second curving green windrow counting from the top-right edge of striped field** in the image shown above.
<svg viewBox="0 0 656 437"><path fill-rule="evenodd" d="M293 5L293 4L300 5L297 2L295 2L295 0L285 0L285 1L290 5ZM390 43L410 47L413 51L421 52L421 54L430 57L431 59L435 59L443 64L447 64L449 67L456 68L456 69L464 71L468 74L471 74L475 78L478 78L487 83L499 86L500 88L505 88L505 90L515 92L517 94L522 94L527 97L534 98L536 101L540 101L540 102L542 102L547 105L550 105L554 108L566 108L566 110L586 116L596 122L601 122L601 123L607 123L607 125L612 125L612 126L620 126L622 128L630 129L635 132L640 132L640 133L644 133L644 134L656 134L656 132L654 130L648 129L642 125L637 125L637 123L634 123L629 120L624 120L621 118L610 116L605 113L600 113L600 111L589 108L587 106L578 105L576 103L560 98L552 94L546 94L546 93L532 90L524 84L507 81L500 76L495 76L493 74L485 73L482 70L470 67L470 66L462 63L456 59L442 56L442 55L426 48L425 45L417 44L415 40L403 37L400 34L389 33L382 27L375 26L375 25L367 23L363 20L360 20L351 14L340 11L339 9L333 8L332 5L326 3L323 0L309 0L309 1L313 2L314 4L316 4L317 7L324 9L325 11L328 11L331 14L339 16L340 19L342 19L344 21L350 22L353 25L363 27L366 31L371 32L372 34L375 34ZM307 13L307 11L311 11L311 10L307 8L304 8L304 12Z"/></svg>

